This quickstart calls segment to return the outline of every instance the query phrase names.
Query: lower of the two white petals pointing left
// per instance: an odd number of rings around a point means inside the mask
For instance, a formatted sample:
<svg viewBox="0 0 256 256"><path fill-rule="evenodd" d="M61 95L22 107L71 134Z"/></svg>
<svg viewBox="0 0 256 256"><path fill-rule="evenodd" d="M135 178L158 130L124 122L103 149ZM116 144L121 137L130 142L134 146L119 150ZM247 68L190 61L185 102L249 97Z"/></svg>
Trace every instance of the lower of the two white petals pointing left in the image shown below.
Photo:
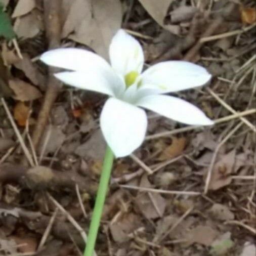
<svg viewBox="0 0 256 256"><path fill-rule="evenodd" d="M81 71L66 71L55 74L55 76L70 86L83 90L95 91L98 93L115 96L115 87L123 83L118 76L116 80L113 77L107 77L101 73L89 73Z"/></svg>

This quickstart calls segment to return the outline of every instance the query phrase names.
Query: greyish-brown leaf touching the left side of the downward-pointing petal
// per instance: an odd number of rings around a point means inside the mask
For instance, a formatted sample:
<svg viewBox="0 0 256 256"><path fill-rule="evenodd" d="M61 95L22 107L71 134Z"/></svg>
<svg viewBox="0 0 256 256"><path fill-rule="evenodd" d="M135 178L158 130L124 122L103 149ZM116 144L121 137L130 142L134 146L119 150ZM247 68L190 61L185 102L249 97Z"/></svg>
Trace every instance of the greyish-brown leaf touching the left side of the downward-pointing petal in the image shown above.
<svg viewBox="0 0 256 256"><path fill-rule="evenodd" d="M91 138L82 143L76 150L75 154L80 157L90 157L93 160L102 160L106 150L106 143L100 130L93 133Z"/></svg>

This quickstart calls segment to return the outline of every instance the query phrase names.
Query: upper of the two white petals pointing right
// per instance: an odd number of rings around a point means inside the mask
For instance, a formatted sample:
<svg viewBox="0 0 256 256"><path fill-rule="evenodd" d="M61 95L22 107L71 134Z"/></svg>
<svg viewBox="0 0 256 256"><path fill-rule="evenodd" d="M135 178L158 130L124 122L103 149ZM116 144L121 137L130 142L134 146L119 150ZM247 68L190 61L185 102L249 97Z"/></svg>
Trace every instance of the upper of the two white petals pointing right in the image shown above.
<svg viewBox="0 0 256 256"><path fill-rule="evenodd" d="M141 86L161 93L177 92L202 86L211 75L199 65L187 61L165 61L142 73Z"/></svg>

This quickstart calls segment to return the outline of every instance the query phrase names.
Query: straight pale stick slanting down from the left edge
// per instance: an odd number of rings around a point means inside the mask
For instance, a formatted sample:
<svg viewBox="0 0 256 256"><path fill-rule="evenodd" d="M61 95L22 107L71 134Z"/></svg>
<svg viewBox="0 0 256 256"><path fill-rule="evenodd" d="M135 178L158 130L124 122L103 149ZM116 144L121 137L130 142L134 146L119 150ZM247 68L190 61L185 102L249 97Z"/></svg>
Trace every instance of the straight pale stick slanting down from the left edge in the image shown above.
<svg viewBox="0 0 256 256"><path fill-rule="evenodd" d="M15 134L16 134L16 136L17 136L19 142L20 142L21 148L23 149L23 152L24 152L24 154L25 154L25 156L26 156L26 158L27 158L29 164L30 164L31 166L34 166L34 162L33 162L32 156L30 155L29 150L28 150L28 148L26 147L26 145L25 145L25 143L24 143L24 141L23 141L23 138L22 138L22 136L21 136L21 134L20 134L19 129L17 128L17 125L16 125L16 123L15 123L13 117L12 117L12 114L11 114L11 112L10 112L10 110L9 110L9 108L8 108L8 106L7 106L7 104L6 104L5 99L4 99L4 98L1 98L1 101L2 101L2 104L3 104L3 106L4 106L4 109L5 109L5 111L6 111L6 114L7 114L8 118L9 118L9 120L10 120L12 126L13 126L13 130L14 130L14 132L15 132Z"/></svg>

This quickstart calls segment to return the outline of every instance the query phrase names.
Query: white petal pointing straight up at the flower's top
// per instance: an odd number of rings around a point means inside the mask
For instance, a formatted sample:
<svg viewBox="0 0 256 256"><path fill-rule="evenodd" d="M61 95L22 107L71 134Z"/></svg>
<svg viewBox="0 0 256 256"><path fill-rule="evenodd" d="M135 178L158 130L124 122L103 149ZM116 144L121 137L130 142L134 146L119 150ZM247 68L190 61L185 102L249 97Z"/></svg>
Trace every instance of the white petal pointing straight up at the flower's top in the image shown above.
<svg viewBox="0 0 256 256"><path fill-rule="evenodd" d="M140 43L123 29L119 29L112 38L109 47L111 66L123 76L131 71L141 73L144 63Z"/></svg>

